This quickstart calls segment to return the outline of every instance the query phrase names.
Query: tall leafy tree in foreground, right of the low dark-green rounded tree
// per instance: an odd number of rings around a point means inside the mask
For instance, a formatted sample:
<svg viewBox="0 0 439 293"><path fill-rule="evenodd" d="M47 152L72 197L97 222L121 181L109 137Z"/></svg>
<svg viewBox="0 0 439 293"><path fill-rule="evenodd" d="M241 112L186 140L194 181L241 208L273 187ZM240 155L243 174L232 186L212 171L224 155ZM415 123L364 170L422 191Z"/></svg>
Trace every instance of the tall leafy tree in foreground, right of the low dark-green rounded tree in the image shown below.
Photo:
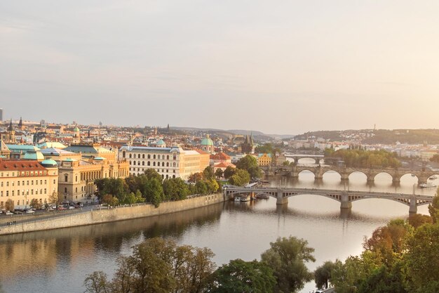
<svg viewBox="0 0 439 293"><path fill-rule="evenodd" d="M261 254L261 259L273 269L275 292L297 292L313 279L305 262L316 259L312 255L314 249L308 247L306 240L292 236L279 237L276 242L270 242L270 247Z"/></svg>

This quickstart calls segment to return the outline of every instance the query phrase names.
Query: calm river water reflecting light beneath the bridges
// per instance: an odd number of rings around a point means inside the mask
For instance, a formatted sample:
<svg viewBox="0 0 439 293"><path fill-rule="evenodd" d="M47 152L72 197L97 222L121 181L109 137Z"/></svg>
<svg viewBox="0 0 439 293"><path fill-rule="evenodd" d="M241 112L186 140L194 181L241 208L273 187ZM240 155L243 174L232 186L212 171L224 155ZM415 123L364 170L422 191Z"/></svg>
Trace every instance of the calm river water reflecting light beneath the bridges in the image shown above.
<svg viewBox="0 0 439 293"><path fill-rule="evenodd" d="M417 182L410 174L400 185L392 185L388 174L379 174L373 185L367 185L364 174L351 174L349 179L342 183L337 173L327 172L316 183L313 174L302 172L299 180L277 178L271 185L412 193ZM416 192L434 195L435 188ZM226 202L145 219L6 235L0 237L0 280L7 293L83 292L86 275L104 271L112 276L118 256L130 254L130 247L155 236L209 247L215 263L221 265L238 258L259 260L270 242L293 235L316 249L316 262L308 263L313 270L324 261L360 254L363 237L391 219L407 218L408 209L398 202L370 199L353 202L351 211L342 212L335 200L300 195L283 206L276 206L273 198ZM419 207L418 212L428 214L427 207ZM314 289L311 282L302 292Z"/></svg>

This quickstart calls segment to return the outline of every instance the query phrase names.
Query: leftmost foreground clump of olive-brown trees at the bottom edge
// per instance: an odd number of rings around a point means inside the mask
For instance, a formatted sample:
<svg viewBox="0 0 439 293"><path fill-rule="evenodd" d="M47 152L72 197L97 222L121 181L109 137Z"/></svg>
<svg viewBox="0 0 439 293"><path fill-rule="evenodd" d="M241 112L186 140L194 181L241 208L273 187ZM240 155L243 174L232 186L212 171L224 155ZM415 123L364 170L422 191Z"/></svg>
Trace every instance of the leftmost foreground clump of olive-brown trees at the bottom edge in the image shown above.
<svg viewBox="0 0 439 293"><path fill-rule="evenodd" d="M203 292L215 271L210 249L177 246L173 240L152 238L121 256L112 281L102 272L88 276L88 293L195 293Z"/></svg>

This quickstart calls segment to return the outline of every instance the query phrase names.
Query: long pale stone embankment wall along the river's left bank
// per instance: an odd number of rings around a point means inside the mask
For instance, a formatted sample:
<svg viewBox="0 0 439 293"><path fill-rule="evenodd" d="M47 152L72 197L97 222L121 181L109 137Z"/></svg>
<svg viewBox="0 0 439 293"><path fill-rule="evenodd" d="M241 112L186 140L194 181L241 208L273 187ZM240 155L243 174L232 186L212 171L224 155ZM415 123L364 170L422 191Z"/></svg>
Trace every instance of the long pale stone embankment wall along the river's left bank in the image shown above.
<svg viewBox="0 0 439 293"><path fill-rule="evenodd" d="M206 207L210 204L224 202L225 200L226 199L222 193L215 193L213 195L191 197L186 200L175 202L162 202L159 207L154 207L152 204L144 204L133 207L116 207L114 209L82 211L76 214L67 214L66 216L57 216L40 220L36 219L36 221L18 222L11 226L2 226L0 228L0 235L86 226L97 223L171 214L177 211Z"/></svg>

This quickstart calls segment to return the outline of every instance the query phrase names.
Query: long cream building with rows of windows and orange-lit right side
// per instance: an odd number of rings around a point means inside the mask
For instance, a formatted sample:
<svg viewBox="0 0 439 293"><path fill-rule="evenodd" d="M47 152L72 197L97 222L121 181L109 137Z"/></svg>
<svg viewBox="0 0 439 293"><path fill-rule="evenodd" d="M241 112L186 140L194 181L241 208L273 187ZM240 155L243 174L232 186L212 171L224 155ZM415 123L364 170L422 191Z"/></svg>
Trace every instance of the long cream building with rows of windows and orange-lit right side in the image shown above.
<svg viewBox="0 0 439 293"><path fill-rule="evenodd" d="M155 169L162 178L189 179L194 173L209 166L210 155L203 150L183 150L180 147L154 148L124 145L119 149L119 159L126 159L130 175L144 174Z"/></svg>

